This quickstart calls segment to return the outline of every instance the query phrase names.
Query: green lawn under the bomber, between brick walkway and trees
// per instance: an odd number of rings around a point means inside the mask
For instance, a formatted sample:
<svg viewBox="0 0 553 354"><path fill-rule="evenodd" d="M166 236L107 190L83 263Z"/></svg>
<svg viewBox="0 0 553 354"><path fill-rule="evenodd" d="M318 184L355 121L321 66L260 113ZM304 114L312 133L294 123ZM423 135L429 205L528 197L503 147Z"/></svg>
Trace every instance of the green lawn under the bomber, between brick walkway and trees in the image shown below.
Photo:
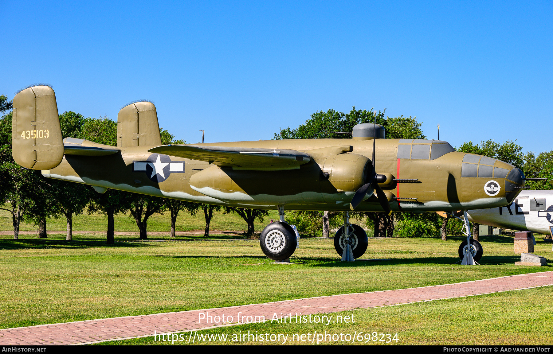
<svg viewBox="0 0 553 354"><path fill-rule="evenodd" d="M86 235L85 235L86 236ZM482 266L453 265L461 237L369 239L363 258L338 262L332 239L301 239L274 266L257 240L116 242L0 240L0 327L213 308L549 271L515 266L513 239L481 237ZM535 253L553 260L551 244ZM544 298L544 302L547 300Z"/></svg>

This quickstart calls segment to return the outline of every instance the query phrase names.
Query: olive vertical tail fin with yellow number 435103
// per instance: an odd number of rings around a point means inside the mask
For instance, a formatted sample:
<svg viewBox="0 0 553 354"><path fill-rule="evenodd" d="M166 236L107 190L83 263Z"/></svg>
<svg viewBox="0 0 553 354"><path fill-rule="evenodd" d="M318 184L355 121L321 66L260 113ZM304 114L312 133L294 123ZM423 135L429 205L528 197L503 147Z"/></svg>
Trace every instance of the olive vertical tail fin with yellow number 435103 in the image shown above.
<svg viewBox="0 0 553 354"><path fill-rule="evenodd" d="M64 157L58 105L51 87L25 88L13 98L12 156L32 170L50 170Z"/></svg>

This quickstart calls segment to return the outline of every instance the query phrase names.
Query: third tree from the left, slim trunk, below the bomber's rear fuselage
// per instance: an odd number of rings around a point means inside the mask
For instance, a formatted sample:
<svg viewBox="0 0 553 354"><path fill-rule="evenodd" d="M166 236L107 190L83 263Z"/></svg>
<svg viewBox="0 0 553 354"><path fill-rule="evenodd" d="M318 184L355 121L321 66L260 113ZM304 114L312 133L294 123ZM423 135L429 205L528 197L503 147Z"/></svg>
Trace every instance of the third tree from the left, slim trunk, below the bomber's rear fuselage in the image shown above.
<svg viewBox="0 0 553 354"><path fill-rule="evenodd" d="M66 240L71 241L73 235L73 215L84 212L91 198L91 190L85 184L53 181L53 197L61 214L67 220Z"/></svg>

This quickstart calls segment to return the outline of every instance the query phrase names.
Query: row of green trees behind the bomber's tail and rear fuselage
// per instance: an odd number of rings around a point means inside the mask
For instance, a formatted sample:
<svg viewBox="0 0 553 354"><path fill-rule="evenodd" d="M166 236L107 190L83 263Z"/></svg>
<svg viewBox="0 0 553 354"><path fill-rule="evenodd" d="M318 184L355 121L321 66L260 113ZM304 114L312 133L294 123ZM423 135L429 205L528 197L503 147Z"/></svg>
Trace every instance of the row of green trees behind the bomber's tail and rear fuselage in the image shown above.
<svg viewBox="0 0 553 354"><path fill-rule="evenodd" d="M236 213L247 224L246 235L254 233L254 220L268 215L267 210L220 207L219 205L190 203L182 200L145 196L108 189L97 193L86 184L45 178L41 171L19 166L12 158L12 101L0 96L0 207L12 215L14 239L19 238L21 221L38 226L39 237L47 237L46 220L64 217L67 220L66 240L72 239L72 218L83 213L101 213L107 216L107 243L113 244L114 215L129 214L139 230L139 239L147 239L148 218L154 214L170 212L170 236L175 236L175 224L179 213L196 215L203 210L204 235L210 231L213 212ZM9 111L9 112L7 112ZM7 113L6 113L7 112ZM5 114L4 114L5 113ZM62 138L86 139L100 144L117 146L117 123L108 117L85 118L76 112L60 114ZM160 128L162 144L186 144L175 140L169 131Z"/></svg>

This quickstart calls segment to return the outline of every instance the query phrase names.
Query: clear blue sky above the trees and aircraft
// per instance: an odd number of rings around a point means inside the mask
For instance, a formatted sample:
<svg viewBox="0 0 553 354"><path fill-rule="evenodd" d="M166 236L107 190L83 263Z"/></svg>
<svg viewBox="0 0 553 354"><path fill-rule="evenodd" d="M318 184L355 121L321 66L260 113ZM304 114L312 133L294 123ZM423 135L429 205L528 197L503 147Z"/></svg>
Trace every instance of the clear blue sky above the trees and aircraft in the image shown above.
<svg viewBox="0 0 553 354"><path fill-rule="evenodd" d="M316 110L416 116L436 139L553 149L553 4L0 1L0 93L61 112L150 99L187 142L270 139Z"/></svg>

